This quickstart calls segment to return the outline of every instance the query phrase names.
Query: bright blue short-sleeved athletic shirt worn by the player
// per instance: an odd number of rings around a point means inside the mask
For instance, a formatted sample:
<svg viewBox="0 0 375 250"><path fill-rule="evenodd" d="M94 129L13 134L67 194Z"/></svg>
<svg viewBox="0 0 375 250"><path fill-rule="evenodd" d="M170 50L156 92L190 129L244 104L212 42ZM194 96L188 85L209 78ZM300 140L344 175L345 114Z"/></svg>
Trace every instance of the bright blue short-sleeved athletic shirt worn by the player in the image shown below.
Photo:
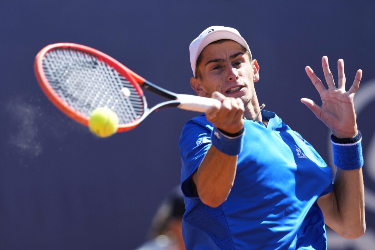
<svg viewBox="0 0 375 250"><path fill-rule="evenodd" d="M245 137L236 178L219 207L192 192L192 174L211 146L205 115L188 121L179 141L187 250L327 249L323 214L316 201L333 190L332 172L297 132L273 112L269 120L243 120Z"/></svg>

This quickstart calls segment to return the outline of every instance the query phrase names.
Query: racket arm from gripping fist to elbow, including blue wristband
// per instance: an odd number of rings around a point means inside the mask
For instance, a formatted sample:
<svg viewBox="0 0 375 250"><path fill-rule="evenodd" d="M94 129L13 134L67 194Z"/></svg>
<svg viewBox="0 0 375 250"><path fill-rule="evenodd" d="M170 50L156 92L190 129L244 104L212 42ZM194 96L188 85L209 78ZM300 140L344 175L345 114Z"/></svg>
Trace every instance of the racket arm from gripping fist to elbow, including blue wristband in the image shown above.
<svg viewBox="0 0 375 250"><path fill-rule="evenodd" d="M217 91L211 97L221 102L206 112L207 120L214 125L212 143L192 179L201 201L218 207L228 197L236 176L245 107L240 98L226 97Z"/></svg>

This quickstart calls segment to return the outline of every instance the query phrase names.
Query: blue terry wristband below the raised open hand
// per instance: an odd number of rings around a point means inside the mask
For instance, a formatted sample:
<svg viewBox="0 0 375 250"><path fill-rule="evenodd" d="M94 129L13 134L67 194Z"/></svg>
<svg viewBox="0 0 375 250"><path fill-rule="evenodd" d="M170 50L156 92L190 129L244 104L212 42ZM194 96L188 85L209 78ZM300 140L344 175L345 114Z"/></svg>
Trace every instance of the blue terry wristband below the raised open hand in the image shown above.
<svg viewBox="0 0 375 250"><path fill-rule="evenodd" d="M353 138L337 138L331 135L333 163L340 169L353 170L363 166L362 135Z"/></svg>

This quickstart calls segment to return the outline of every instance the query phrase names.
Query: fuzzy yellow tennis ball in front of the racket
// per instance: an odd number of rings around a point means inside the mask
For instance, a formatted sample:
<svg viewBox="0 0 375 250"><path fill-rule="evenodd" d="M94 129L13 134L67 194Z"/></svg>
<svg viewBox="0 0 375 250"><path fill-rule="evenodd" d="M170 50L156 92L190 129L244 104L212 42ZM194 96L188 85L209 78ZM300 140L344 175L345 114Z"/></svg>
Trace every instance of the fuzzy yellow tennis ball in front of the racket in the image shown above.
<svg viewBox="0 0 375 250"><path fill-rule="evenodd" d="M109 108L96 108L91 112L89 129L99 137L113 135L117 131L118 117L116 113Z"/></svg>

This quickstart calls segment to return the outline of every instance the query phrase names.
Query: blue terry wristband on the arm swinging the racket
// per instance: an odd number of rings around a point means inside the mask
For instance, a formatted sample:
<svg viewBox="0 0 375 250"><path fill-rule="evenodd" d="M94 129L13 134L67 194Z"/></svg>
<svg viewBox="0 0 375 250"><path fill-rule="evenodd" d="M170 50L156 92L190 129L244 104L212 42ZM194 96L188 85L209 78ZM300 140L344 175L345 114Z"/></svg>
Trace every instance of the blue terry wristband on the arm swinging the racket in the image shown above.
<svg viewBox="0 0 375 250"><path fill-rule="evenodd" d="M230 156L238 155L243 147L243 135L245 129L242 128L239 135L230 136L229 133L224 134L216 127L213 128L211 133L211 142L220 152ZM238 133L236 133L238 134Z"/></svg>

